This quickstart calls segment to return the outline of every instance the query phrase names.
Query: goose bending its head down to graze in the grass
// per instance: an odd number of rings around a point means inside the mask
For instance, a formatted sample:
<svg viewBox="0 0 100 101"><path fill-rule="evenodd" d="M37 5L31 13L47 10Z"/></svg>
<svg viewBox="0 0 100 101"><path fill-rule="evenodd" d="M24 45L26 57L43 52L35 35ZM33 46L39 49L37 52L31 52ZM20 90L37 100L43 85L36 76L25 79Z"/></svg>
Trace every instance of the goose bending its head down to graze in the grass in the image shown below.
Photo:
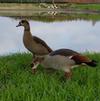
<svg viewBox="0 0 100 101"><path fill-rule="evenodd" d="M62 70L65 72L65 76L70 78L72 75L71 69L73 67L81 64L96 67L97 62L73 50L59 49L52 51L44 58L37 58L37 60L33 61L32 69L36 69L39 64L42 64L45 68Z"/></svg>

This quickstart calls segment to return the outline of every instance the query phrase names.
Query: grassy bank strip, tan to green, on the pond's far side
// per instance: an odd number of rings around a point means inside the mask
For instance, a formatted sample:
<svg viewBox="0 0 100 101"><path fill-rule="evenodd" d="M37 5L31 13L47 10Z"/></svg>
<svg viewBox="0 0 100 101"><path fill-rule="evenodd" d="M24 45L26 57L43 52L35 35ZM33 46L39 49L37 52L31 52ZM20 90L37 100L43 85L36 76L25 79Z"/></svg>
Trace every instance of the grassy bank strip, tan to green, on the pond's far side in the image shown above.
<svg viewBox="0 0 100 101"><path fill-rule="evenodd" d="M74 4L61 3L56 4L58 9L73 9L73 10L100 10L100 4ZM46 10L52 9L52 4L47 3L0 3L0 9L32 9L32 10Z"/></svg>

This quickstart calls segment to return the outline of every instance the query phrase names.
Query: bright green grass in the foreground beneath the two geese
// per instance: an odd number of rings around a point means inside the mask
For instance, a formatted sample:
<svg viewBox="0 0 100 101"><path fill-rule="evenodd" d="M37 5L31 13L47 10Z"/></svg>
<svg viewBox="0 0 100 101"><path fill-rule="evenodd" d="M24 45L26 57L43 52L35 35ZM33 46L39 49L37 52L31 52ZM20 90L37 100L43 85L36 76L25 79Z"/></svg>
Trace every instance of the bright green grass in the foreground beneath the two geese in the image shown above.
<svg viewBox="0 0 100 101"><path fill-rule="evenodd" d="M32 74L30 54L0 57L0 101L100 101L100 54L87 55L98 66L73 69L71 80L41 66Z"/></svg>

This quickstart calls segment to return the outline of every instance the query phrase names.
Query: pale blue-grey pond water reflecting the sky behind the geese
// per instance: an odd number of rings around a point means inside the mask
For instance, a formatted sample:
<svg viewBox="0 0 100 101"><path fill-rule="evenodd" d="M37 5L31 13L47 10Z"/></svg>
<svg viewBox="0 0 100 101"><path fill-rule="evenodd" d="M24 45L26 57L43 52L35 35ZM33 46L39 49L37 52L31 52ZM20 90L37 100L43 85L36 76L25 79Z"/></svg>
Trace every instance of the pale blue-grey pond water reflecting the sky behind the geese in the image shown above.
<svg viewBox="0 0 100 101"><path fill-rule="evenodd" d="M23 27L17 28L20 19L0 17L0 55L26 52L23 45ZM43 22L29 20L31 32L53 49L69 48L78 52L100 51L100 20L71 19Z"/></svg>

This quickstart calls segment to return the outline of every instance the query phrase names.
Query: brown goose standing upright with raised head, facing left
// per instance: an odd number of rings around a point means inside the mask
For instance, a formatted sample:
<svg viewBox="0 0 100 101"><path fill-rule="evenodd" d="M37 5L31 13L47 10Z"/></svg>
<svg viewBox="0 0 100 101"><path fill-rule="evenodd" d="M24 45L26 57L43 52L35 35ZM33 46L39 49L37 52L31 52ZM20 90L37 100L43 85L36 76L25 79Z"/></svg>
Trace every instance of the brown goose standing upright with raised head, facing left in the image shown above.
<svg viewBox="0 0 100 101"><path fill-rule="evenodd" d="M43 56L49 54L52 49L40 38L32 36L30 24L27 20L21 20L16 27L24 27L23 43L33 56Z"/></svg>

